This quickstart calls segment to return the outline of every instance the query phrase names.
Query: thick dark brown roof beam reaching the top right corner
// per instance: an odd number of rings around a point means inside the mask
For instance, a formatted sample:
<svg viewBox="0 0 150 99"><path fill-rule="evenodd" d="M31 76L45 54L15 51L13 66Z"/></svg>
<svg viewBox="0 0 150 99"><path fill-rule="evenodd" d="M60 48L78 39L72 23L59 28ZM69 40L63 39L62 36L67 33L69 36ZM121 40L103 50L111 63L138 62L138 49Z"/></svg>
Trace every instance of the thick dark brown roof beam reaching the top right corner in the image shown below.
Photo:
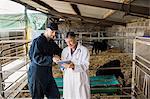
<svg viewBox="0 0 150 99"><path fill-rule="evenodd" d="M143 7L139 5L132 5L132 4L129 5L129 4L111 2L105 0L58 0L58 1L65 1L73 4L83 4L83 5L89 5L89 6L95 6L95 7L101 7L101 8L107 8L112 10L119 10L119 11L124 11L129 13L150 16L149 13L150 7Z"/></svg>

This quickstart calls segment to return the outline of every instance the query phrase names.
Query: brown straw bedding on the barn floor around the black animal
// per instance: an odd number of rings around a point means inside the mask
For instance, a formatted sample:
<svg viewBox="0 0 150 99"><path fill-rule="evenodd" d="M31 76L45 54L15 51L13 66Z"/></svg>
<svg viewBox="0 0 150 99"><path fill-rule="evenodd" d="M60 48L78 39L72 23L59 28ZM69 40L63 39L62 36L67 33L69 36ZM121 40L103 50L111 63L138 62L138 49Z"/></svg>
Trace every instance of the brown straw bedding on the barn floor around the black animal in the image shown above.
<svg viewBox="0 0 150 99"><path fill-rule="evenodd" d="M121 70L125 76L125 82L126 87L131 87L131 66L132 66L132 54L130 53L121 53L121 51L116 49L111 49L99 54L91 54L90 56L90 68L89 68L89 76L95 76L96 70L99 66L109 62L110 60L119 59L121 61ZM58 66L53 66L53 75L54 77L62 77L62 72L59 70ZM121 80L119 79L120 83ZM24 88L25 90L28 89L27 86ZM130 94L130 90L124 91L127 94ZM127 95L124 94L124 95ZM114 94L114 98L107 97L107 94L95 94L92 95L91 99L120 99L118 97L115 97L116 94ZM103 98L100 98L101 96L106 96ZM29 93L20 93L17 97L30 97ZM123 98L128 99L128 98Z"/></svg>

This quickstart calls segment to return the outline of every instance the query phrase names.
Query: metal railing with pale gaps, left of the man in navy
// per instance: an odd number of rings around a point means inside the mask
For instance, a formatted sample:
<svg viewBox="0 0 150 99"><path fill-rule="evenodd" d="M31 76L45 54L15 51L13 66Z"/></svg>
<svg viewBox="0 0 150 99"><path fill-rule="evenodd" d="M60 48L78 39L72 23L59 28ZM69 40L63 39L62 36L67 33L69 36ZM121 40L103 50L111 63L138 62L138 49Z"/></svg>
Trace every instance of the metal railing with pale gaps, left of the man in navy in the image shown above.
<svg viewBox="0 0 150 99"><path fill-rule="evenodd" d="M27 84L28 57L26 47L30 41L7 40L0 41L0 44L12 44L0 51L0 92L4 98L13 98ZM22 44L23 43L23 44ZM14 51L15 50L15 51ZM8 53L5 53L10 51ZM14 53L12 52L14 51ZM3 60L7 59L8 62ZM10 61L11 60L11 61Z"/></svg>

